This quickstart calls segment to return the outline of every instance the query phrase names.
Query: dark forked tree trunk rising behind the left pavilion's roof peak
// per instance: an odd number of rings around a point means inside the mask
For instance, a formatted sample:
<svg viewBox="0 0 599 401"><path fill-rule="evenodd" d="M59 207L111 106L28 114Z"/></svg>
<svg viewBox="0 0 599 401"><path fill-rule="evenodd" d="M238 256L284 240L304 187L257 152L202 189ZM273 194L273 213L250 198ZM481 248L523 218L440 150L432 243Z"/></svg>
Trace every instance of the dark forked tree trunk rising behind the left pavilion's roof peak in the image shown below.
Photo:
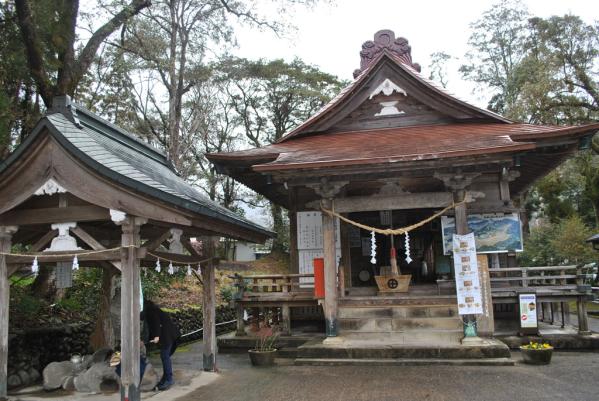
<svg viewBox="0 0 599 401"><path fill-rule="evenodd" d="M150 0L131 0L76 54L79 0L35 2L33 7L29 0L15 0L29 74L46 107L55 96L72 96L102 42L150 5Z"/></svg>

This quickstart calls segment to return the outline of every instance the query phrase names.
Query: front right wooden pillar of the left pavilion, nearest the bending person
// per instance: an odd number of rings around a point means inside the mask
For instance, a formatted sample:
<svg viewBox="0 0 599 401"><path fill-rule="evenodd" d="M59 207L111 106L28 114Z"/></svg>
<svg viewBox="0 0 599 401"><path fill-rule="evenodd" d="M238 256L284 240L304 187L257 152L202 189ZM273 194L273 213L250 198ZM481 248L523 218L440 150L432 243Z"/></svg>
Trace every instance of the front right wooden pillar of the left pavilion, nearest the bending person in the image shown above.
<svg viewBox="0 0 599 401"><path fill-rule="evenodd" d="M121 401L140 396L140 226L145 220L128 216L120 222L121 245Z"/></svg>

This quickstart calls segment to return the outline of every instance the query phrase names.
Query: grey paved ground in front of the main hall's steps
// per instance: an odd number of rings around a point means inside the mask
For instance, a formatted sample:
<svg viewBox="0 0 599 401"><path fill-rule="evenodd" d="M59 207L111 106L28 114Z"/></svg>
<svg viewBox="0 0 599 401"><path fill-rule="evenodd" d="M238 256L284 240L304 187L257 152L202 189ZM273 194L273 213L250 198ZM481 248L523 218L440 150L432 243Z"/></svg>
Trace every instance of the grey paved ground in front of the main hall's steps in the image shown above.
<svg viewBox="0 0 599 401"><path fill-rule="evenodd" d="M520 360L519 353L512 355ZM557 352L549 366L253 368L220 355L220 378L176 401L595 401L599 354Z"/></svg>

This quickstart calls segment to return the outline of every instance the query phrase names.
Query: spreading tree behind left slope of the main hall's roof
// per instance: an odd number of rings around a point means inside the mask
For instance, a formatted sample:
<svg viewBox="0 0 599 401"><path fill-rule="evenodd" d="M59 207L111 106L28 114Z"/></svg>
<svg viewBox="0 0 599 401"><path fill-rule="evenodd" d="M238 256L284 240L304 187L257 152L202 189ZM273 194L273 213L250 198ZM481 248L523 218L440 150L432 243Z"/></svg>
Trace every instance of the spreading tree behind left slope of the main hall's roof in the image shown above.
<svg viewBox="0 0 599 401"><path fill-rule="evenodd" d="M299 59L283 60L229 58L217 68L222 71L233 109L239 116L245 137L252 146L262 147L281 139L310 117L342 87L336 77ZM281 206L270 203L273 252L288 248L289 223Z"/></svg>

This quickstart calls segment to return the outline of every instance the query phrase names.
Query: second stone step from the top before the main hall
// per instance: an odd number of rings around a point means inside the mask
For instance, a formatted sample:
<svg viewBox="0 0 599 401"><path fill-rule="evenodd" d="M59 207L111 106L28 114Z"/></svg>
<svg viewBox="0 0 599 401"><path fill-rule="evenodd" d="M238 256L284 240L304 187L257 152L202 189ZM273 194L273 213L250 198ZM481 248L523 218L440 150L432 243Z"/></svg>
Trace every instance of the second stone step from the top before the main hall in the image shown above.
<svg viewBox="0 0 599 401"><path fill-rule="evenodd" d="M438 318L341 318L343 332L407 332L411 330L462 330L462 321L456 317Z"/></svg>

